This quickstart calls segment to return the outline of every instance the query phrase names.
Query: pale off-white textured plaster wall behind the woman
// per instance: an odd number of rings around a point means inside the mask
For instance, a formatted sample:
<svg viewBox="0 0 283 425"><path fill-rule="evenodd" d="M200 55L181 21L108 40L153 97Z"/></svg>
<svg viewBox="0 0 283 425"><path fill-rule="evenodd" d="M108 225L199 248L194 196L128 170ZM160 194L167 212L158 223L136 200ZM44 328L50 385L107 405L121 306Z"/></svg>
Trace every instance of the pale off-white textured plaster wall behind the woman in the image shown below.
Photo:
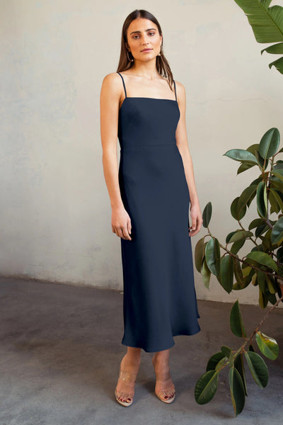
<svg viewBox="0 0 283 425"><path fill-rule="evenodd" d="M222 155L274 126L283 135L283 76L267 67L273 57L260 55L234 1L0 0L0 8L1 273L122 289L99 96L134 8L160 21L174 78L185 85L200 203L212 201L210 229L224 243L238 227L231 201L257 173L236 177L238 163ZM250 210L255 217L254 203ZM257 288L228 296L216 279L210 290L197 271L195 280L199 298L258 302Z"/></svg>

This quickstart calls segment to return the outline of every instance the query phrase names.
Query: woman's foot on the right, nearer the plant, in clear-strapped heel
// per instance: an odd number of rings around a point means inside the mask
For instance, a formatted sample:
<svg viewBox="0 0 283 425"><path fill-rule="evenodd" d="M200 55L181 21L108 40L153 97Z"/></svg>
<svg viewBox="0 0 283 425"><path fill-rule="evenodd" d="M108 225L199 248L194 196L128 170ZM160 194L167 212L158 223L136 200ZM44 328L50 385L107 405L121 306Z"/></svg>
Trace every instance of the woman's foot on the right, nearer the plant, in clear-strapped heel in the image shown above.
<svg viewBox="0 0 283 425"><path fill-rule="evenodd" d="M175 386L171 379L168 357L155 353L152 358L156 375L155 393L162 402L171 403L175 399Z"/></svg>

